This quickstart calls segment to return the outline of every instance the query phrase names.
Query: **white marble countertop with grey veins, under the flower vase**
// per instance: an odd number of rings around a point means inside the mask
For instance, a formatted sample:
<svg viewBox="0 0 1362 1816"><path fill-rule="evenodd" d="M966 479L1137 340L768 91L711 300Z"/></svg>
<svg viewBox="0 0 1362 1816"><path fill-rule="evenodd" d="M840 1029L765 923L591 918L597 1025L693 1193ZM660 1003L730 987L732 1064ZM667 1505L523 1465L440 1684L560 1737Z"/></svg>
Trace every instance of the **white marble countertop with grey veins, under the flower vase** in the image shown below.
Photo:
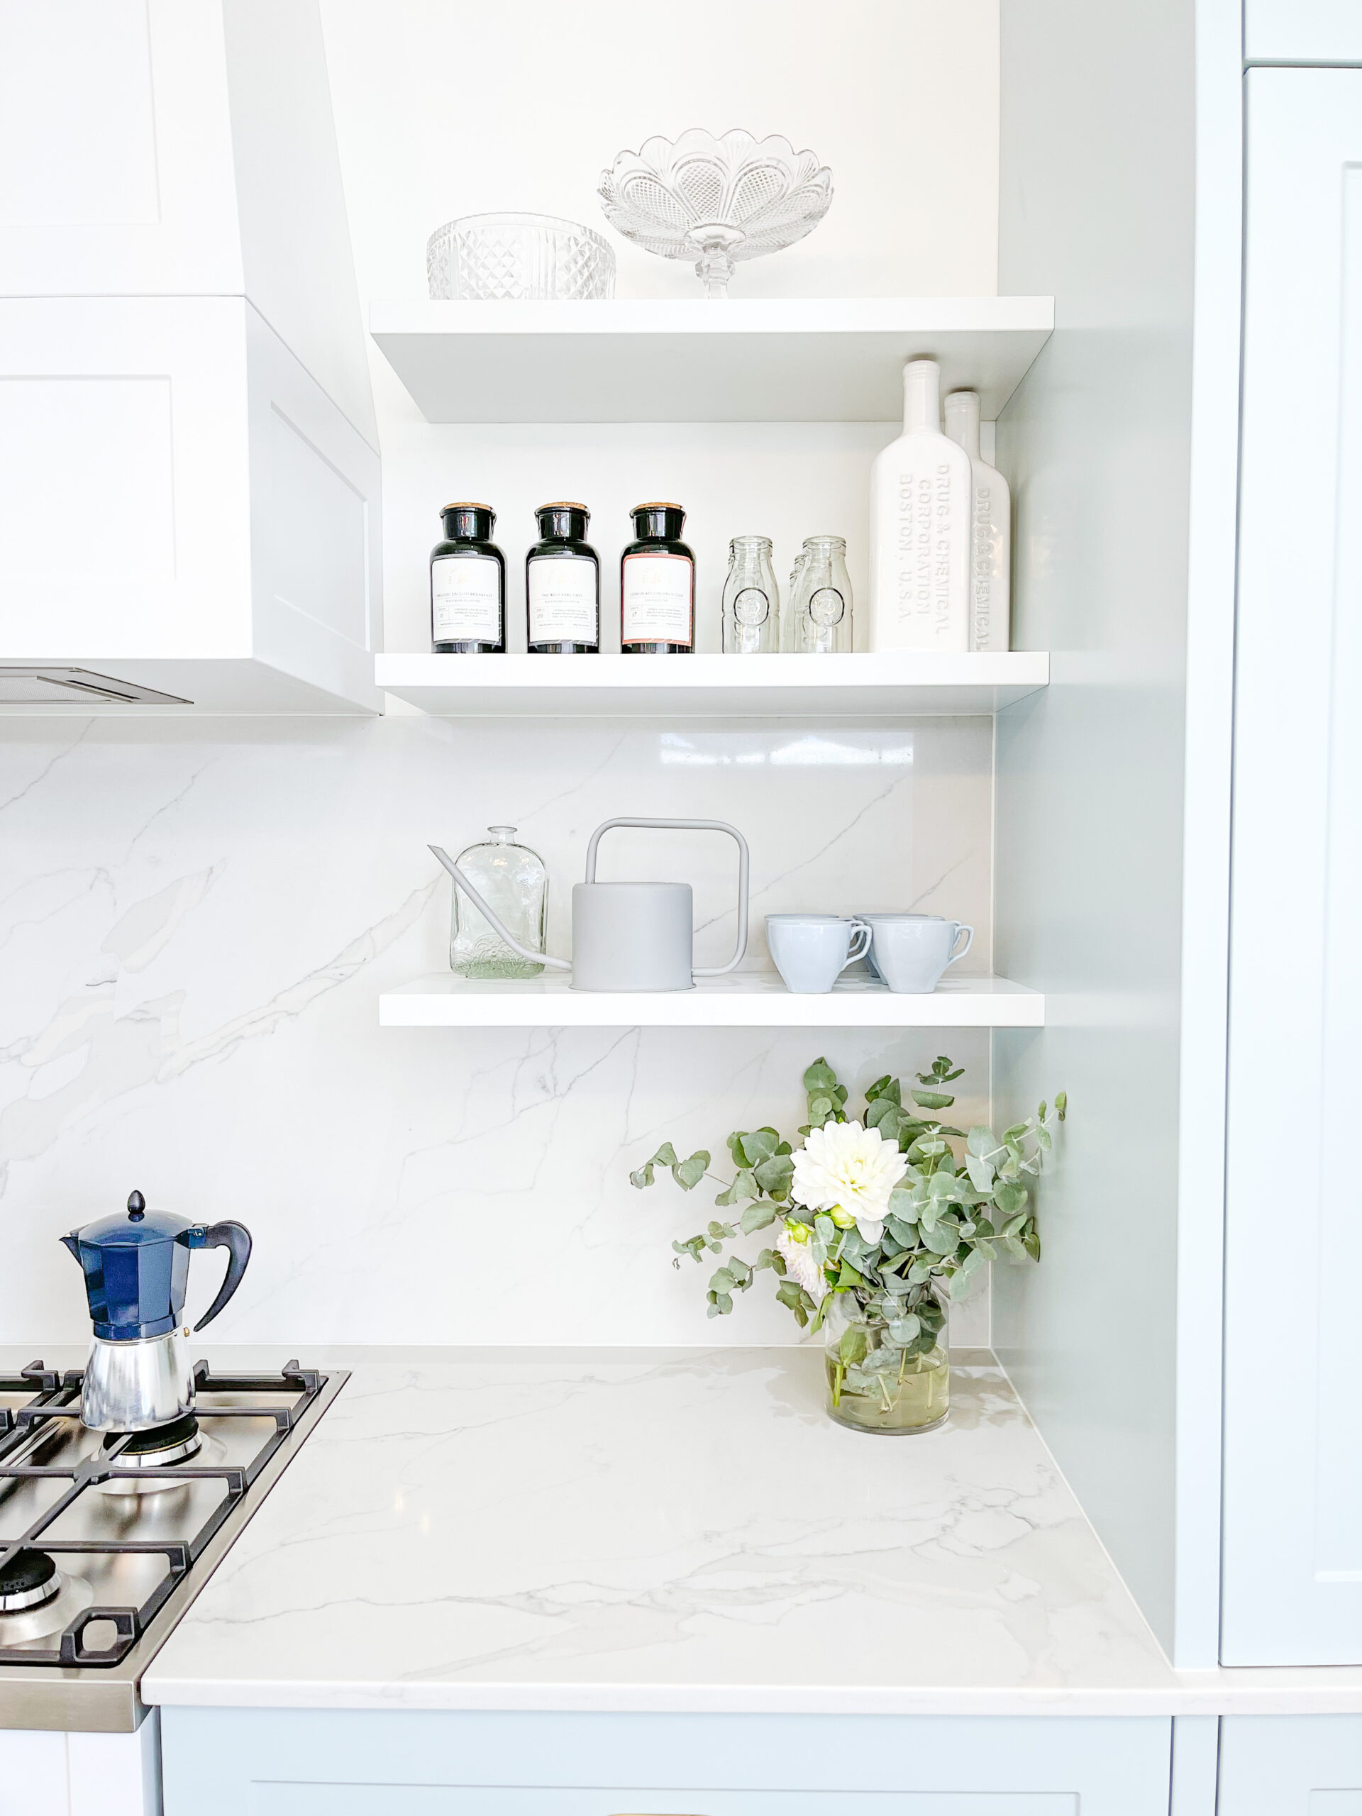
<svg viewBox="0 0 1362 1816"><path fill-rule="evenodd" d="M1362 1709L1353 1671L1173 1673L981 1353L903 1440L834 1426L810 1349L445 1355L354 1369L147 1702Z"/></svg>

